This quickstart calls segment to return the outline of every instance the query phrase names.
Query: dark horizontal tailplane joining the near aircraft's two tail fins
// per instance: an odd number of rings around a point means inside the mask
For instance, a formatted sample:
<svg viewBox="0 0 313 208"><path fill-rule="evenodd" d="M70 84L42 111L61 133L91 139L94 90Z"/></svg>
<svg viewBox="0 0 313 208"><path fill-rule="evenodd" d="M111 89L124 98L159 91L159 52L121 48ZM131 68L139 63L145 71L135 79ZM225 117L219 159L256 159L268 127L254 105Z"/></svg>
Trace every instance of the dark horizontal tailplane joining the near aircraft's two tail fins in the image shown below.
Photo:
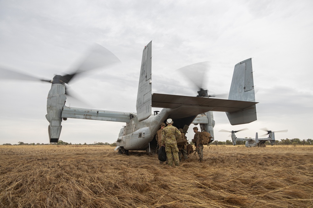
<svg viewBox="0 0 313 208"><path fill-rule="evenodd" d="M249 108L255 104L257 104L257 102L201 98L172 94L152 94L152 107L156 108L175 109L181 106L190 106L194 108L206 108L210 111L236 112Z"/></svg>

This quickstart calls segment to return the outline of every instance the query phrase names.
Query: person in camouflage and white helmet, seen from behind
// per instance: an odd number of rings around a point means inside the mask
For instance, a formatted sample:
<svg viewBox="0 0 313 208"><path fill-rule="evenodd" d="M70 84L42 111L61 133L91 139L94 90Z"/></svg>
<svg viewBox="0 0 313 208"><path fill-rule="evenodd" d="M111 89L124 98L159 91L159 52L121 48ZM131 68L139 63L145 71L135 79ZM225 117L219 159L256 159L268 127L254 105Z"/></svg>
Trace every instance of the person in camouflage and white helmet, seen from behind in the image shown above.
<svg viewBox="0 0 313 208"><path fill-rule="evenodd" d="M172 119L167 119L166 124L167 127L164 127L162 131L162 146L165 145L165 152L168 160L168 165L169 166L173 165L174 158L175 165L179 166L178 148L176 140L180 138L181 133L175 126L172 126L173 124Z"/></svg>

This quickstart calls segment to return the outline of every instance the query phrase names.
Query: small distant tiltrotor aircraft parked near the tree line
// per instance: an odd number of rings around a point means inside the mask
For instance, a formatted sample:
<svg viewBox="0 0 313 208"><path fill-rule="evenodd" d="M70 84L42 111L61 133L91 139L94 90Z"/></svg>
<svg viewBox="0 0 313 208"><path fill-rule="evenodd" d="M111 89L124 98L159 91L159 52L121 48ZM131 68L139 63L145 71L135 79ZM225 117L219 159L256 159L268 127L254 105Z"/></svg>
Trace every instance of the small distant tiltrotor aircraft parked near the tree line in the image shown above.
<svg viewBox="0 0 313 208"><path fill-rule="evenodd" d="M275 132L287 132L288 130L281 130L281 131L270 131L267 130L266 128L261 128L261 130L267 131L267 134L264 134L262 136L265 135L269 135L269 137L267 138L259 138L258 137L258 133L255 133L255 138L238 138L236 137L235 133L242 131L242 130L247 130L247 128L238 130L238 131L227 131L227 130L220 130L220 132L230 132L231 137L232 137L232 142L233 145L236 145L236 141L246 141L245 146L246 147L266 147L265 142L269 141L270 144L273 146L275 144Z"/></svg>

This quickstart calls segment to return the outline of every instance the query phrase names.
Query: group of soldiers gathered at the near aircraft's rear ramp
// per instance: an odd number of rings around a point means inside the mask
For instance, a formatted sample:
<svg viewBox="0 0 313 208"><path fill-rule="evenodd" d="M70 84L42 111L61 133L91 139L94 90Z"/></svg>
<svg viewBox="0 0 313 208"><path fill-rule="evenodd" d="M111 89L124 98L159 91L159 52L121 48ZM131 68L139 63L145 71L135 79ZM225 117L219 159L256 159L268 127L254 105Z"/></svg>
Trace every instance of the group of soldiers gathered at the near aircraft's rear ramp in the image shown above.
<svg viewBox="0 0 313 208"><path fill-rule="evenodd" d="M169 166L173 165L173 161L175 163L175 166L179 166L179 162L182 159L182 156L184 156L184 159L188 159L188 152L187 152L187 137L183 133L183 130L177 129L175 126L173 126L173 120L167 119L165 126L165 123L160 124L160 129L156 132L156 141L158 143L159 148L162 146L165 146L165 152L167 161L166 164ZM193 128L193 132L195 133L193 138L193 143L196 147L196 152L198 152L199 155L199 161L203 161L203 144L201 144L201 134L198 132L198 127ZM162 161L160 161L160 164L163 164Z"/></svg>

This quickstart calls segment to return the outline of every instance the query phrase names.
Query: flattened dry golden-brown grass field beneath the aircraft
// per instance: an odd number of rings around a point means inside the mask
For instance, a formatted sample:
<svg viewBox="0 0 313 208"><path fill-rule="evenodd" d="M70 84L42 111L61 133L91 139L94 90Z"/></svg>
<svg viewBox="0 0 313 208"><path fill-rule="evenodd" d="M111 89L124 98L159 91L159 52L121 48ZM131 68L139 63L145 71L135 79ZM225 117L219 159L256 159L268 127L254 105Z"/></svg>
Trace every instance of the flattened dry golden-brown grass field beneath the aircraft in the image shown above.
<svg viewBox="0 0 313 208"><path fill-rule="evenodd" d="M0 146L0 207L313 207L312 146L211 145L179 167L113 150Z"/></svg>

